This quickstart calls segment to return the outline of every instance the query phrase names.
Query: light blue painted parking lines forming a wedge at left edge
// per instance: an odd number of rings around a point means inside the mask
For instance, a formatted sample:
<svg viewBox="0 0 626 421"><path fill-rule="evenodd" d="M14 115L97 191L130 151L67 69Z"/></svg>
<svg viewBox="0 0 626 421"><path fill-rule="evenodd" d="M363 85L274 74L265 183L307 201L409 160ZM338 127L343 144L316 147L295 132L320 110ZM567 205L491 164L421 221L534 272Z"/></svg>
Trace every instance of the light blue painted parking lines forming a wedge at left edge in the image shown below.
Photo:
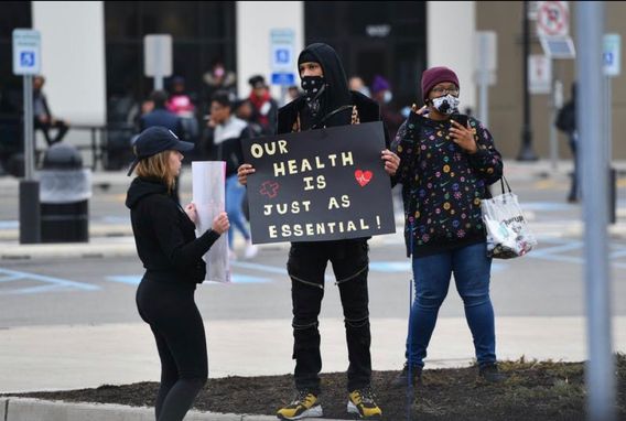
<svg viewBox="0 0 626 421"><path fill-rule="evenodd" d="M41 282L42 285L21 287L23 282ZM100 288L89 283L69 281L66 279L46 277L36 273L20 272L17 270L0 269L0 282L17 283L17 288L3 288L0 295L36 294L42 292L60 291L98 291Z"/></svg>

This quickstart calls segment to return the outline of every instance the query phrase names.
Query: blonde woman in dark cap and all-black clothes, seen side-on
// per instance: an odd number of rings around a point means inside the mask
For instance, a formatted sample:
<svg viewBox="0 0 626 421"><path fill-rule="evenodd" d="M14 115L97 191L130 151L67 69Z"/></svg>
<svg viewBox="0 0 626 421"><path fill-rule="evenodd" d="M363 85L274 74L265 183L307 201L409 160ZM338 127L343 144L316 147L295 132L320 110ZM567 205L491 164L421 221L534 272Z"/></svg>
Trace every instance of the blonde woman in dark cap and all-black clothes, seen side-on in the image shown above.
<svg viewBox="0 0 626 421"><path fill-rule="evenodd" d="M136 159L128 172L138 175L128 188L126 206L145 268L137 309L154 334L161 358L156 421L182 420L206 382L206 339L194 291L206 274L202 257L229 226L222 213L212 229L196 238L195 206L183 209L172 198L181 152L193 148L164 127L148 128L134 143Z"/></svg>

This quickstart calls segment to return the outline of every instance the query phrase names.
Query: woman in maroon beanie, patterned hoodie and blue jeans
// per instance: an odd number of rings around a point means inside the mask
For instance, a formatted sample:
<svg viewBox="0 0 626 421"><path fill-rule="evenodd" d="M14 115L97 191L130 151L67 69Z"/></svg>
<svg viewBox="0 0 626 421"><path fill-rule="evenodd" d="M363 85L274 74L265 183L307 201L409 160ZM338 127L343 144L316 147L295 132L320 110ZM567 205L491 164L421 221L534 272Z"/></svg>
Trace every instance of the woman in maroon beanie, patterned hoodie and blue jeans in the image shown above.
<svg viewBox="0 0 626 421"><path fill-rule="evenodd" d="M479 375L499 381L494 309L489 299L492 259L481 199L503 174L489 131L458 115L458 78L447 67L422 74L425 106L400 127L392 150L400 156L407 256L412 257L415 296L409 317L407 363L395 385L421 380L423 359L439 309L454 273L474 338Z"/></svg>

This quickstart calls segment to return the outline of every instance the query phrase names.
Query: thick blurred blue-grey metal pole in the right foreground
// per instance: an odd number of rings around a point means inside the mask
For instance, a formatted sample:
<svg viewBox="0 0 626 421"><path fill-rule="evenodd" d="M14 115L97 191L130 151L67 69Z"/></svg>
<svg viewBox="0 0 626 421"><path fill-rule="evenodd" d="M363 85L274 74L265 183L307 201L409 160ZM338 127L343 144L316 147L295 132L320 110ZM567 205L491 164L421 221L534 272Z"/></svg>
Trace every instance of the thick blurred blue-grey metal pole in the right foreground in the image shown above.
<svg viewBox="0 0 626 421"><path fill-rule="evenodd" d="M579 1L576 67L580 95L576 121L583 165L583 210L585 239L585 285L589 360L585 367L587 419L615 420L615 363L612 354L611 271L607 246L606 132L607 107L603 93L602 36L604 1ZM600 142L595 139L602 139Z"/></svg>

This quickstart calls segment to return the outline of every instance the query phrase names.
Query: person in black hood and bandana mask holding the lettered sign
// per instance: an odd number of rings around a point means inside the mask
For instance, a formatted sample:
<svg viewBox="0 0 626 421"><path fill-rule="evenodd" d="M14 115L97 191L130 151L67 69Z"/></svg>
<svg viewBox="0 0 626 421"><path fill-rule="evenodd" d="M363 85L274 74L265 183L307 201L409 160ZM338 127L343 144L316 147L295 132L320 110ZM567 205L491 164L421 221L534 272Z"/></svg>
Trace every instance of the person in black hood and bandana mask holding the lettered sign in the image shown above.
<svg viewBox="0 0 626 421"><path fill-rule="evenodd" d="M278 133L380 121L378 104L348 89L344 68L333 47L322 43L309 45L300 53L298 65L304 95L279 110ZM386 149L381 160L387 173L395 175L399 158ZM246 184L247 176L253 172L250 164L240 165L239 182ZM370 388L368 250L367 238L291 244L287 267L291 277L296 396L278 411L279 419L323 415L319 399L322 358L317 316L328 261L333 265L345 317L348 412L365 419L380 418L382 411Z"/></svg>

